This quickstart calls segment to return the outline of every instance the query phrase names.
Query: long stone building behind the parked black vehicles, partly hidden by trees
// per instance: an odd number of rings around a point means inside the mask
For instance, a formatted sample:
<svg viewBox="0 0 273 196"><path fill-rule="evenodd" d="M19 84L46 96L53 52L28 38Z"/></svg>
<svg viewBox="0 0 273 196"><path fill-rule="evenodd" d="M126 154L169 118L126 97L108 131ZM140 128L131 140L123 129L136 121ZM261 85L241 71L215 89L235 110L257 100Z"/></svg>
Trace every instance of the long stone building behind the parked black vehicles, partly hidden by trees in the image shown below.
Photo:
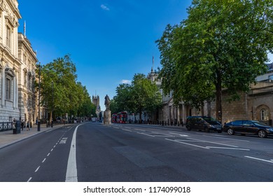
<svg viewBox="0 0 273 196"><path fill-rule="evenodd" d="M273 120L273 63L267 64L268 71L262 76L256 78L256 84L251 84L250 90L246 93L239 92L238 101L229 102L228 94L222 92L222 123L228 123L231 120L250 119L260 120L272 125ZM151 77L153 76L153 77ZM157 73L148 74L148 78L156 80ZM158 86L160 86L160 81ZM162 120L169 125L185 123L187 116L212 116L216 118L216 102L204 103L201 110L195 109L188 104L180 102L175 105L170 94L162 94L162 109L156 111L158 118L153 120ZM155 114L153 116L156 116Z"/></svg>

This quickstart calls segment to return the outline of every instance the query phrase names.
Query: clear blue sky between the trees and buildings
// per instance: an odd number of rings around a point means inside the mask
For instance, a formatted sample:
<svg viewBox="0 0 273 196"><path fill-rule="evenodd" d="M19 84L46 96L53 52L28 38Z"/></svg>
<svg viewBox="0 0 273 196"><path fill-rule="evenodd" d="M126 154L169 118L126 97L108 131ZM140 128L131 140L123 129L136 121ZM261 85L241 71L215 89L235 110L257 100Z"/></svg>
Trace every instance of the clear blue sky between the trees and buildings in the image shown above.
<svg viewBox="0 0 273 196"><path fill-rule="evenodd" d="M90 96L106 94L135 73L160 66L155 41L167 24L187 18L191 0L18 0L24 31L41 64L71 55ZM273 57L270 57L273 59Z"/></svg>

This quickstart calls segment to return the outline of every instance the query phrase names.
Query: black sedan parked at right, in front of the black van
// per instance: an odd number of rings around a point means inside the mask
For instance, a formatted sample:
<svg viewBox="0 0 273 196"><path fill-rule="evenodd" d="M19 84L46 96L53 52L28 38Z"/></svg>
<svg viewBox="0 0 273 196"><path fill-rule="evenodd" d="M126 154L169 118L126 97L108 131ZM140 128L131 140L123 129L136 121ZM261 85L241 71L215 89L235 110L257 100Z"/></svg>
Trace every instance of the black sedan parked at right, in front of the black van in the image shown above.
<svg viewBox="0 0 273 196"><path fill-rule="evenodd" d="M258 134L259 137L267 137L268 134L273 134L273 127L261 123L257 120L235 120L226 123L223 127L224 132L228 134Z"/></svg>

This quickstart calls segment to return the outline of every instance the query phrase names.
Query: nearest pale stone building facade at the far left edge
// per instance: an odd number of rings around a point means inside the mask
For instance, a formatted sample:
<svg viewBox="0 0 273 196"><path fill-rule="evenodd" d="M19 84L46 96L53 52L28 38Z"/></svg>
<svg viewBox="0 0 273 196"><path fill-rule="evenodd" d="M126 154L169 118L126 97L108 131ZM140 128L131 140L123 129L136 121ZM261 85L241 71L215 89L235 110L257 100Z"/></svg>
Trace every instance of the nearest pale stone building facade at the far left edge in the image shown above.
<svg viewBox="0 0 273 196"><path fill-rule="evenodd" d="M0 1L0 122L19 118L18 27L22 17L17 0Z"/></svg>

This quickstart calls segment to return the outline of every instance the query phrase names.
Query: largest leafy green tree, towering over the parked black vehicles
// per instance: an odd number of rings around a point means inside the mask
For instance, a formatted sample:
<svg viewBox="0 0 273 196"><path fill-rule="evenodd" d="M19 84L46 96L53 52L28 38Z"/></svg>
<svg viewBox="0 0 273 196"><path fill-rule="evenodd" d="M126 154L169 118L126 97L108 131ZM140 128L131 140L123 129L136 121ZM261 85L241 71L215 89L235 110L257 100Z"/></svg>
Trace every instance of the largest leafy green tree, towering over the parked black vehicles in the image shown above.
<svg viewBox="0 0 273 196"><path fill-rule="evenodd" d="M273 48L272 0L193 0L188 18L167 25L156 41L161 52L162 88L200 108L221 92L239 99L255 78L265 73L267 52Z"/></svg>

